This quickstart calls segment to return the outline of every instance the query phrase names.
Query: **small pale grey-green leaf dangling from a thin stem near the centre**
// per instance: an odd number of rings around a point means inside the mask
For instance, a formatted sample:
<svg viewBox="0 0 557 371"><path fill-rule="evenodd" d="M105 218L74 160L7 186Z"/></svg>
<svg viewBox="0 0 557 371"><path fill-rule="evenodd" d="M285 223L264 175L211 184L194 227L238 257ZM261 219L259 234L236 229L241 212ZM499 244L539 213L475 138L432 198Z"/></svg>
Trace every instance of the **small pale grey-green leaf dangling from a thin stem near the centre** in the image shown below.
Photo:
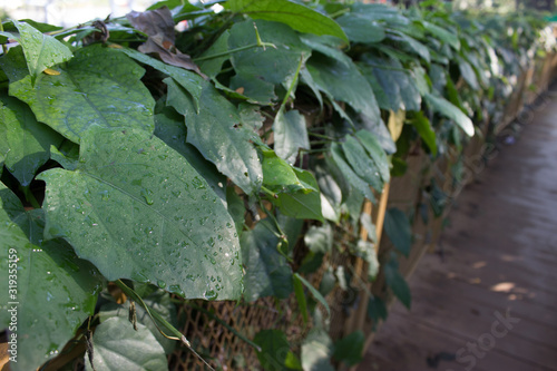
<svg viewBox="0 0 557 371"><path fill-rule="evenodd" d="M297 109L276 114L274 124L274 150L289 164L294 164L300 148L310 149L305 117Z"/></svg>

